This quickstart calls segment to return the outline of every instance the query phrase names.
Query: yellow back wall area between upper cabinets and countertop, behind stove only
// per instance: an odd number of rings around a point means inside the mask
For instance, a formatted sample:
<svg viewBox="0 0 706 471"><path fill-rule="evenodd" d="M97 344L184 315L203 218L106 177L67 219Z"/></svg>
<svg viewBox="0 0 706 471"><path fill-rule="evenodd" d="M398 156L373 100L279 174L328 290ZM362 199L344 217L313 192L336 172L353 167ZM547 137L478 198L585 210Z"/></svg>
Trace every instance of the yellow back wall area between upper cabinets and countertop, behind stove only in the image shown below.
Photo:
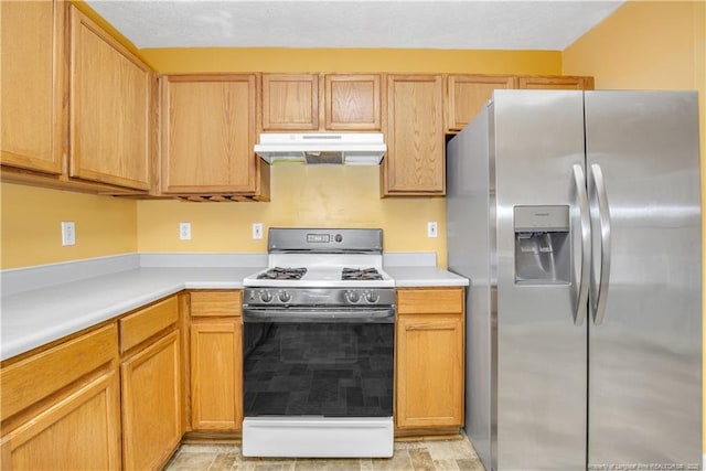
<svg viewBox="0 0 706 471"><path fill-rule="evenodd" d="M253 240L252 224L272 226L383 227L386 250L437 251L446 265L445 200L381 200L379 169L277 164L271 169L271 203L138 204L140 251L267 251L267 236ZM427 221L439 237L427 238ZM192 239L179 240L179 223L192 224Z"/></svg>

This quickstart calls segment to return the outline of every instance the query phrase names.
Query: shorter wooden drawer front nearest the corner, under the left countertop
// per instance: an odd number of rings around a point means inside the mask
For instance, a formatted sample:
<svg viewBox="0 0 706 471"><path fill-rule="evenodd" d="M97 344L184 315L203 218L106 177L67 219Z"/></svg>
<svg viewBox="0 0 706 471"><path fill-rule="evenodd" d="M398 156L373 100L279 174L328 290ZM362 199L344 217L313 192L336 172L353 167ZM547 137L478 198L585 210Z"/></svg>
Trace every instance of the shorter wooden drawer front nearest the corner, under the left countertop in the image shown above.
<svg viewBox="0 0 706 471"><path fill-rule="evenodd" d="M175 296L120 319L120 353L167 329L178 319L179 301Z"/></svg>

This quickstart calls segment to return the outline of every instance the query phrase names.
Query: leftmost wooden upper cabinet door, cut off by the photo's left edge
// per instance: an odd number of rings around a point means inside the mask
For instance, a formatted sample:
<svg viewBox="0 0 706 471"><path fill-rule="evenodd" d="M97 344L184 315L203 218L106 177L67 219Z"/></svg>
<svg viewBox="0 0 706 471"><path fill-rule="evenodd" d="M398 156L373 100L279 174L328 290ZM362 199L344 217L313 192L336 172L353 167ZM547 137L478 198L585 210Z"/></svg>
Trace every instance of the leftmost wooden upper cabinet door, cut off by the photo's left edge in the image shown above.
<svg viewBox="0 0 706 471"><path fill-rule="evenodd" d="M0 2L2 164L62 173L64 3Z"/></svg>

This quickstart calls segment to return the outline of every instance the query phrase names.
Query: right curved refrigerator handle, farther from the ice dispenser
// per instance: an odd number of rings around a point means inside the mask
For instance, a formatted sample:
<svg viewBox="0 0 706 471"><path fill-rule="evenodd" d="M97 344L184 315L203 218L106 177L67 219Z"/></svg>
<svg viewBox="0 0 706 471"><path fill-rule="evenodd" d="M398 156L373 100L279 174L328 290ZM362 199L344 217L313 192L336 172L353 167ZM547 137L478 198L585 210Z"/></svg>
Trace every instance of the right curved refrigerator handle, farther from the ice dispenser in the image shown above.
<svg viewBox="0 0 706 471"><path fill-rule="evenodd" d="M591 180L593 182L593 190L589 185L589 193L595 194L598 201L598 217L600 234L600 261L591 264L591 270L600 267L599 276L596 277L595 272L591 272L591 310L593 314L593 323L600 325L606 319L606 303L608 301L608 283L610 281L610 212L608 208L608 193L606 192L606 181L603 179L603 172L599 164L591 164ZM596 251L593 251L596 254ZM598 286L596 287L596 280Z"/></svg>

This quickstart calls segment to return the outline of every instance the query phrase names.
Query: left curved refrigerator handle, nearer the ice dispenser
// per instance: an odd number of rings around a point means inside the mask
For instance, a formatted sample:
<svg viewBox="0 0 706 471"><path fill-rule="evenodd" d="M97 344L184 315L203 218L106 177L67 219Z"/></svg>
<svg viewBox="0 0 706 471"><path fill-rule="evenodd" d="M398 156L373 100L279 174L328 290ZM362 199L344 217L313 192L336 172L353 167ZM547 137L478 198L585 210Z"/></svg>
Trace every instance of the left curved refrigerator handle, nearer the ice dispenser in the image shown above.
<svg viewBox="0 0 706 471"><path fill-rule="evenodd" d="M571 287L571 299L574 300L574 324L582 325L586 317L586 301L588 300L588 286L590 278L590 257L591 257L591 220L588 208L588 193L586 192L586 176L584 168L579 164L574 165L574 184L576 185L576 199L578 206L578 220L581 231L581 248L580 261L577 264L578 270L574 270L574 279Z"/></svg>

